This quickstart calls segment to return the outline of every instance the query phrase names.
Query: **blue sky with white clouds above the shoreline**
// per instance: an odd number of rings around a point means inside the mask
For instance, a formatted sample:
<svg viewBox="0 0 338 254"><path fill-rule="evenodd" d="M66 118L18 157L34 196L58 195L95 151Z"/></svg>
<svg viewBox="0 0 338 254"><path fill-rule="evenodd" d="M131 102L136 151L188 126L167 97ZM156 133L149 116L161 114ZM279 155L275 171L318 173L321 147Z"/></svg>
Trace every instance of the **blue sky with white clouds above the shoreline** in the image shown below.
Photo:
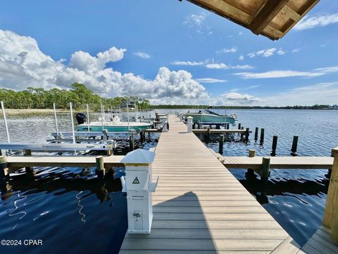
<svg viewBox="0 0 338 254"><path fill-rule="evenodd" d="M320 1L277 41L187 1L3 1L0 87L81 82L154 103L338 104L337 41L337 1Z"/></svg>

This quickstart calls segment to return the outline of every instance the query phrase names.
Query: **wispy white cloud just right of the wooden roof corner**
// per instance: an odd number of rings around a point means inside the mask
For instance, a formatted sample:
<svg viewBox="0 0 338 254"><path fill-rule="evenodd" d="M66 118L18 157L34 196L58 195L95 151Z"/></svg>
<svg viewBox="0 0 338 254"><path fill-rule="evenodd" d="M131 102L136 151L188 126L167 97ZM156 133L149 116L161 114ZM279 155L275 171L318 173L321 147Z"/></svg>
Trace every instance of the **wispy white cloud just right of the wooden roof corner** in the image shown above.
<svg viewBox="0 0 338 254"><path fill-rule="evenodd" d="M338 23L338 13L319 13L315 16L305 16L297 25L294 26L294 30L306 30L334 23Z"/></svg>

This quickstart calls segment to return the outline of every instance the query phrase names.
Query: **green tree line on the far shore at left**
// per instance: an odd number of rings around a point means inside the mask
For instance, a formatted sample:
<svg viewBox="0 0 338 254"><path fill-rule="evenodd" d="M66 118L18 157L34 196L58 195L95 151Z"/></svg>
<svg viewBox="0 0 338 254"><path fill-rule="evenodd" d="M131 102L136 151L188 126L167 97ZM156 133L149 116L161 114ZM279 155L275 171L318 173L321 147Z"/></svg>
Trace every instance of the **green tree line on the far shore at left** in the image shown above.
<svg viewBox="0 0 338 254"><path fill-rule="evenodd" d="M0 88L0 101L3 101L8 109L68 109L69 102L73 102L75 109L85 109L89 104L91 109L101 109L101 103L105 109L120 107L120 104L127 101L134 101L140 110L149 109L147 99L139 97L113 97L104 98L95 95L85 85L73 83L71 90L60 90L57 88L44 90L44 88L28 87L27 90L15 92L13 90Z"/></svg>

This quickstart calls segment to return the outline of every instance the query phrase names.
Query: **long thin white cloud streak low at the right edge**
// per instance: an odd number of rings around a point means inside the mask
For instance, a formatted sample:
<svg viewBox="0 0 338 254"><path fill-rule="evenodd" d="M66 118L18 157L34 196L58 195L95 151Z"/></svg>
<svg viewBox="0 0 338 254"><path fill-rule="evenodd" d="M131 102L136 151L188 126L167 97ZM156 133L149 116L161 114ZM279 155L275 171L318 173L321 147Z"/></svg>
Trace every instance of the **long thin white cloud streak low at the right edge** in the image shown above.
<svg viewBox="0 0 338 254"><path fill-rule="evenodd" d="M315 68L313 71L266 71L263 73L234 73L242 78L289 78L289 77L306 77L313 78L326 73L338 72L338 66L325 68Z"/></svg>

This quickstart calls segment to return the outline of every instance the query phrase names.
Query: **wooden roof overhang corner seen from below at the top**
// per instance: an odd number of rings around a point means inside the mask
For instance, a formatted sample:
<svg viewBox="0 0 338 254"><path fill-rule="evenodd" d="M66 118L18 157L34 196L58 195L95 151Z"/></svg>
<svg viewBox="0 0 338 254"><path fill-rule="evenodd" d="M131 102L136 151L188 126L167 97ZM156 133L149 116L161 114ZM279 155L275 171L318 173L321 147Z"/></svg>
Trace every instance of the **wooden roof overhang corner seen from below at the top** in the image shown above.
<svg viewBox="0 0 338 254"><path fill-rule="evenodd" d="M179 0L182 1L182 0ZM256 35L278 40L320 0L187 0Z"/></svg>

